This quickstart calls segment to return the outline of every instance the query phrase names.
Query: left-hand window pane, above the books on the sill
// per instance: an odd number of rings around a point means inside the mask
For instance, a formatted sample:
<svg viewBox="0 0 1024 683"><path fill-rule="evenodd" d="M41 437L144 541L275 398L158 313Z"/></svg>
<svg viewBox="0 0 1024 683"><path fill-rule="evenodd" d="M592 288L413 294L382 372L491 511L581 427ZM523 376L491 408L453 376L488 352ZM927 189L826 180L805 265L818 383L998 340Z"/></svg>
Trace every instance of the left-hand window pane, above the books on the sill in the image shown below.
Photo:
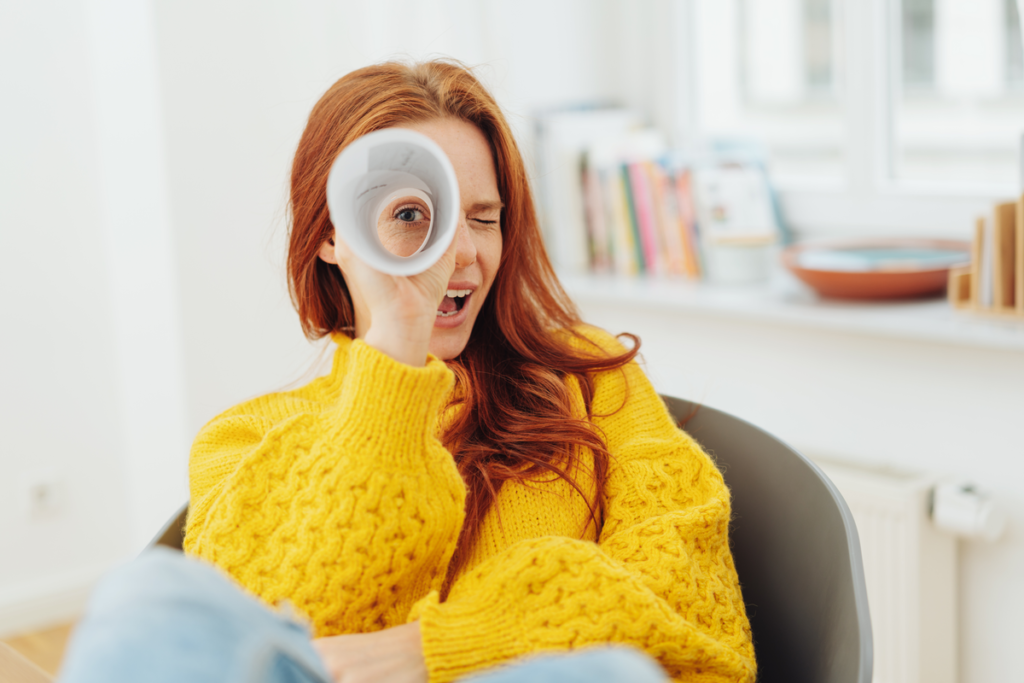
<svg viewBox="0 0 1024 683"><path fill-rule="evenodd" d="M695 0L701 131L754 138L776 178L841 180L840 0Z"/></svg>

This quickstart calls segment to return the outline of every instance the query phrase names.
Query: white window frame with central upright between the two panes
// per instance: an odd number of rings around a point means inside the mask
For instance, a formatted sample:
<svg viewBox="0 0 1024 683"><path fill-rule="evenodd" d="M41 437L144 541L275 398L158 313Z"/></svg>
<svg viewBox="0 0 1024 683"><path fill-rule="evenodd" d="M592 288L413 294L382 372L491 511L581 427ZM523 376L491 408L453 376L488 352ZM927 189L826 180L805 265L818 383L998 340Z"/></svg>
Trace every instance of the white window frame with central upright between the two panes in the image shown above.
<svg viewBox="0 0 1024 683"><path fill-rule="evenodd" d="M680 144L701 138L692 84L695 83L693 12L695 0L670 2L674 27L666 58L677 106L668 126ZM1020 0L1018 0L1020 4ZM665 5L663 5L665 7ZM901 49L899 0L847 0L843 3L844 97L847 125L845 179L783 179L775 189L790 227L801 238L915 236L967 238L979 215L993 203L1018 197L1017 183L974 185L899 179L893 173L894 105L899 78L889 72ZM1024 126L1022 126L1024 130Z"/></svg>

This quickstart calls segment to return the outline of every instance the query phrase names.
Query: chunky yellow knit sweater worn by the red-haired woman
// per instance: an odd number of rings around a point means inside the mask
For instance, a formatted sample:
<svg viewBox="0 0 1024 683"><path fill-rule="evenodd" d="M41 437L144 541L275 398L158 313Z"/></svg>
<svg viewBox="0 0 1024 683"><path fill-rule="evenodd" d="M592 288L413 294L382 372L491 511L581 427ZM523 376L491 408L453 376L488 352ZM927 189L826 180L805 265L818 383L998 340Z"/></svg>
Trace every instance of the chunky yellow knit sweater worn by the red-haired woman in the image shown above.
<svg viewBox="0 0 1024 683"><path fill-rule="evenodd" d="M594 423L612 455L600 538L561 479L506 482L440 602L465 500L438 440L454 376L432 356L411 368L335 341L329 376L238 405L200 432L188 553L270 604L291 601L318 636L418 618L435 682L608 642L647 651L675 680L754 681L729 492L635 362L595 380L593 414L605 417Z"/></svg>

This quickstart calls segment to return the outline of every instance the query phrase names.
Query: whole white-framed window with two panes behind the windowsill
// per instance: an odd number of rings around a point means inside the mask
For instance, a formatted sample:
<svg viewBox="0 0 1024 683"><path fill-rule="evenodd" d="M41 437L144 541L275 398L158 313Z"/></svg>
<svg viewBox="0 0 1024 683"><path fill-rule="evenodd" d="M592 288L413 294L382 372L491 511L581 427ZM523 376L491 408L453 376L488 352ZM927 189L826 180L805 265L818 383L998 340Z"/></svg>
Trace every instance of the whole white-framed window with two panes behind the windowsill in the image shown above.
<svg viewBox="0 0 1024 683"><path fill-rule="evenodd" d="M689 137L758 140L807 233L966 236L1021 187L1018 0L684 0Z"/></svg>

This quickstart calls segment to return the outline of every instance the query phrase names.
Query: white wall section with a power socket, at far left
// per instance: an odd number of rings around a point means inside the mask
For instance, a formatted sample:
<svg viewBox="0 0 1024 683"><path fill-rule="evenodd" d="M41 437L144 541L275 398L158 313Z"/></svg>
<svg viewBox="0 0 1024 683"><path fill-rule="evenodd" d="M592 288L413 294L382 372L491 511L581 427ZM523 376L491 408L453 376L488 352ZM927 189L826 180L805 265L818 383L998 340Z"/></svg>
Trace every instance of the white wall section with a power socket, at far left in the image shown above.
<svg viewBox="0 0 1024 683"><path fill-rule="evenodd" d="M66 618L128 550L85 8L0 4L0 632ZM29 514L29 486L54 507Z"/></svg>

